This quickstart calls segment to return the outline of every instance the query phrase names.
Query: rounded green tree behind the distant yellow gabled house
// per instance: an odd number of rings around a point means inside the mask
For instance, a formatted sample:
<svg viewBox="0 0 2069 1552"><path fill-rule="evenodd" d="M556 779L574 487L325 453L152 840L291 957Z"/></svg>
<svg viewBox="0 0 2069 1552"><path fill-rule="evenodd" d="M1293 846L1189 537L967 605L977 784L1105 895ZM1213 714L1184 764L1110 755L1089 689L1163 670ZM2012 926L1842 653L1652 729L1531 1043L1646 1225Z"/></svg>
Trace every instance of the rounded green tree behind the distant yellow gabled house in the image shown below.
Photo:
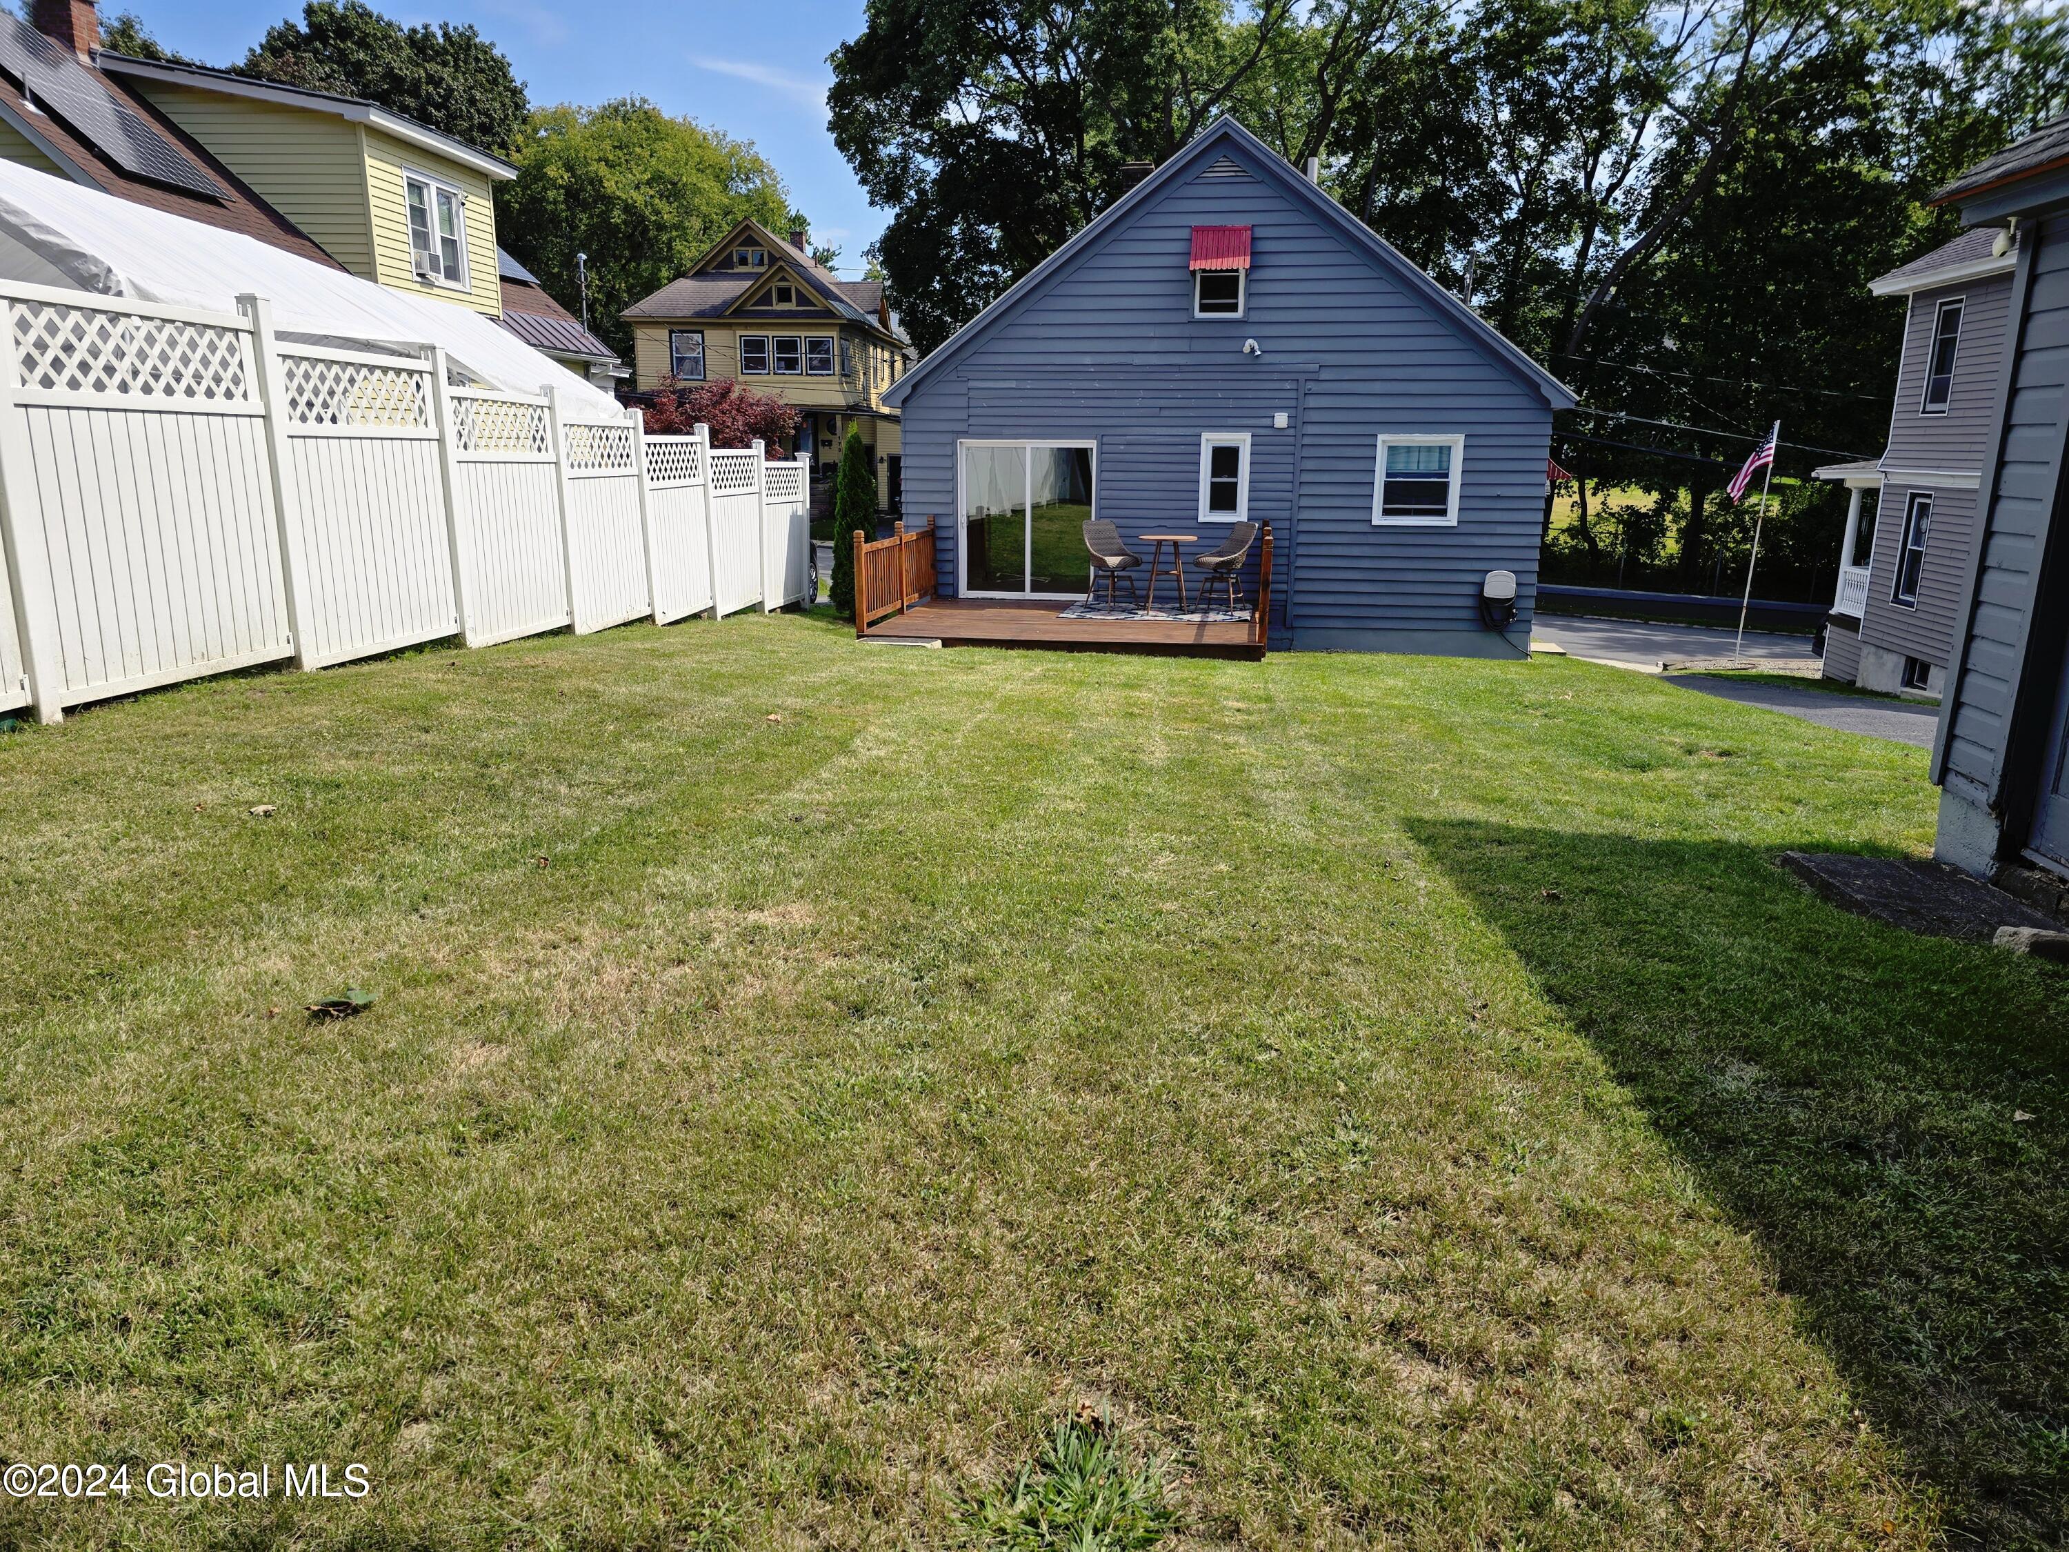
<svg viewBox="0 0 2069 1552"><path fill-rule="evenodd" d="M805 226L749 141L641 97L542 108L513 159L517 176L497 186L503 246L567 304L577 296L575 255L586 252L590 319L627 358L631 331L619 312L681 277L734 221Z"/></svg>

